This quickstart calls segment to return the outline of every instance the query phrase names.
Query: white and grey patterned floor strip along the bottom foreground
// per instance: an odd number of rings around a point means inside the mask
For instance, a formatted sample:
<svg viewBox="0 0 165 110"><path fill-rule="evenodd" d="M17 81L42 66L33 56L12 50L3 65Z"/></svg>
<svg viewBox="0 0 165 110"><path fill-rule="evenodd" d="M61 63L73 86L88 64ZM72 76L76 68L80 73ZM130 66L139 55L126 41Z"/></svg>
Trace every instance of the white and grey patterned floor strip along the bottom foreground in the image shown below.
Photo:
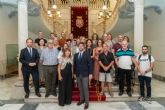
<svg viewBox="0 0 165 110"><path fill-rule="evenodd" d="M64 107L56 103L0 104L0 110L83 110L83 107L83 105L77 106L76 103ZM159 101L152 101L151 104L147 102L91 102L89 110L165 110L165 106Z"/></svg>

